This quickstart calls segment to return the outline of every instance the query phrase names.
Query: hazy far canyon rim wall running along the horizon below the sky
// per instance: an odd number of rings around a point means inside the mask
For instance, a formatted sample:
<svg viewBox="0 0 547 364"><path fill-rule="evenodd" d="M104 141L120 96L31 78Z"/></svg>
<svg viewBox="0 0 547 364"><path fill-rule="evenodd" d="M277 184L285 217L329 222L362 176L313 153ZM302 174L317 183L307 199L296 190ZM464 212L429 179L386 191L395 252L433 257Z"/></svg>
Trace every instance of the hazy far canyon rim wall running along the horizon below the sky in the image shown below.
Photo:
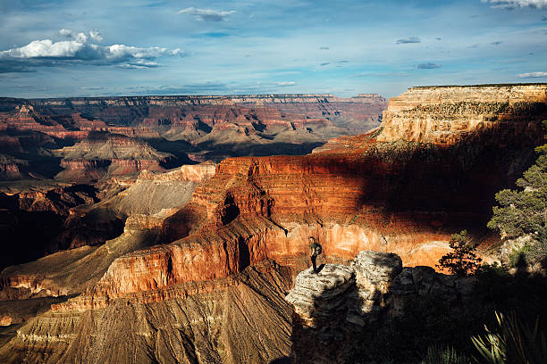
<svg viewBox="0 0 547 364"><path fill-rule="evenodd" d="M17 102L0 101L6 105ZM21 100L16 112L0 112L0 126L80 140L89 131L158 137L158 130L195 128L198 121L211 128L233 123L303 128L337 116L363 122L376 120L385 105L380 95L346 99L332 95L244 95Z"/></svg>

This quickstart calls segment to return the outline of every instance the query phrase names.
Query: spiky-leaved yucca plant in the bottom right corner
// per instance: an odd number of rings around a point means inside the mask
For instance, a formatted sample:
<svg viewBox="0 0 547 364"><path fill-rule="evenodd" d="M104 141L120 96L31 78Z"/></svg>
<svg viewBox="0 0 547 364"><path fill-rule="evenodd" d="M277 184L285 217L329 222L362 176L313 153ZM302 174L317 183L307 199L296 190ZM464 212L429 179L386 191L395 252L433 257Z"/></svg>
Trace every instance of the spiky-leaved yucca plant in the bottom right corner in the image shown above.
<svg viewBox="0 0 547 364"><path fill-rule="evenodd" d="M486 334L472 336L471 341L489 364L545 364L547 341L539 328L539 318L533 326L523 323L514 312L507 317L495 312L498 332L484 326ZM475 359L476 362L480 362Z"/></svg>

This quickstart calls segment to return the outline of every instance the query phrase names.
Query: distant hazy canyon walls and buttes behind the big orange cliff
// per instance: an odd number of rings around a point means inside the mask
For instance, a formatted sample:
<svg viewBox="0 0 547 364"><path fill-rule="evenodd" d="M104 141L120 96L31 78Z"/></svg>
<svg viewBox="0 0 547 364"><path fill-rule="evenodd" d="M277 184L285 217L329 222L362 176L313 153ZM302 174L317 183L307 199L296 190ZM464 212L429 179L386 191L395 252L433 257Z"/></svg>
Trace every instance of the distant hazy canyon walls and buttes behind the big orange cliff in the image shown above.
<svg viewBox="0 0 547 364"><path fill-rule="evenodd" d="M376 127L385 106L381 95L0 98L0 180L95 183L230 156L309 153Z"/></svg>

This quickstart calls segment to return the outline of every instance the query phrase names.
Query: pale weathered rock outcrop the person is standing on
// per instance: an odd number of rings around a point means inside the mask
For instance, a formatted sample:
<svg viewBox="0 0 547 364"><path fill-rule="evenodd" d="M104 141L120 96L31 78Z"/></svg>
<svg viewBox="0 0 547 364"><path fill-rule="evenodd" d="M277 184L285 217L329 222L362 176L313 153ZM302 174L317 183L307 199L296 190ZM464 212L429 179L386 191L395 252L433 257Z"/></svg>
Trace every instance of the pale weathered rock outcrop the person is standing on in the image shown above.
<svg viewBox="0 0 547 364"><path fill-rule="evenodd" d="M294 308L291 362L343 363L358 333L397 316L411 298L468 300L474 278L445 276L429 267L402 268L393 253L359 252L350 266L326 264L299 273L285 297Z"/></svg>

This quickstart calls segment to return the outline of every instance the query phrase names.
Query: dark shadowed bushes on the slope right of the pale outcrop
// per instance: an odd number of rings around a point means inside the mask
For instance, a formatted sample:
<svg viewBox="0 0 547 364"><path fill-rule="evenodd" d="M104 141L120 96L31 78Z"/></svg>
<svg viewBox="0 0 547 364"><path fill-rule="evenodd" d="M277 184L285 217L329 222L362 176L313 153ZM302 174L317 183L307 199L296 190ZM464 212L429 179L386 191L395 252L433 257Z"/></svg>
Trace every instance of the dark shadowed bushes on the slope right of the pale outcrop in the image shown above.
<svg viewBox="0 0 547 364"><path fill-rule="evenodd" d="M484 325L496 327L493 311L516 311L524 322L539 317L539 328L547 332L545 302L547 277L483 265L475 272L471 300L449 302L433 293L408 297L400 314L373 322L356 335L345 362L424 364L442 363L450 355L457 360L476 357L470 337L483 334Z"/></svg>

